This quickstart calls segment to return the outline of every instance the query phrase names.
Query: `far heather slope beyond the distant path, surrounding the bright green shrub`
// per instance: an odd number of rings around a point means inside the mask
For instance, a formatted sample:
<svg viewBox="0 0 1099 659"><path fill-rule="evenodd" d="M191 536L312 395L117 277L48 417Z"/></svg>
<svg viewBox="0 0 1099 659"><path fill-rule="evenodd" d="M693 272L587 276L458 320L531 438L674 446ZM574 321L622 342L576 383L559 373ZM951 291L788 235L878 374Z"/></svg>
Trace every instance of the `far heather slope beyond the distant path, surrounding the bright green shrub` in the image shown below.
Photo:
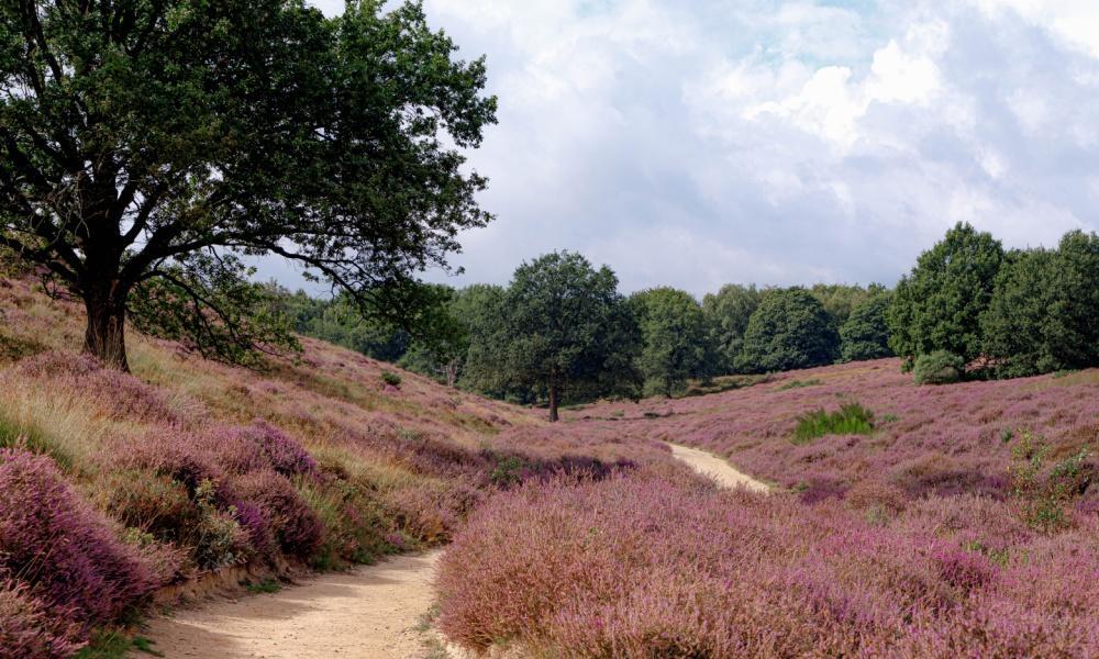
<svg viewBox="0 0 1099 659"><path fill-rule="evenodd" d="M789 387L793 381L818 383ZM801 415L848 402L874 414L873 434L790 440ZM582 414L621 414L625 433L710 450L784 488L842 495L875 478L913 499L975 491L1002 498L1010 490L1012 440L1024 431L1050 443L1054 461L1081 448L1099 456L1099 371L919 387L898 360L885 359L785 373L708 396L602 404Z"/></svg>

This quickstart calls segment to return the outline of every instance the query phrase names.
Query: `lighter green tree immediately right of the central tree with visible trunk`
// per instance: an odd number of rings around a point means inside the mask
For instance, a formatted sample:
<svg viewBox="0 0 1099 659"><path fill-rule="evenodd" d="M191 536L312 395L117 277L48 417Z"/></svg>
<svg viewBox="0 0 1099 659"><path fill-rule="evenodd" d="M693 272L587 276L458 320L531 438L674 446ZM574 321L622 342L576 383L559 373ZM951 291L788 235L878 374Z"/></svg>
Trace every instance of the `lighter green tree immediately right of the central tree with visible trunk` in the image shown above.
<svg viewBox="0 0 1099 659"><path fill-rule="evenodd" d="M687 388L688 379L709 378L714 358L710 327L690 293L650 289L631 295L630 306L641 327L637 367L646 393L670 398Z"/></svg>

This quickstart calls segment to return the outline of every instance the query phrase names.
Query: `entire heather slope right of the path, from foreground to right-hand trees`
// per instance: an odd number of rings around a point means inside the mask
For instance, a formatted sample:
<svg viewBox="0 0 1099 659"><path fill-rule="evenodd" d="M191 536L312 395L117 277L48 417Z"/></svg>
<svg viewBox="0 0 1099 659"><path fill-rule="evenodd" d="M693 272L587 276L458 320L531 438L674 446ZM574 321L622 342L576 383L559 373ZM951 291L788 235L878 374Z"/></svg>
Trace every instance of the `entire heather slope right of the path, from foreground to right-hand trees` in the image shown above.
<svg viewBox="0 0 1099 659"><path fill-rule="evenodd" d="M650 462L491 498L441 563L467 647L563 657L1099 656L1099 371L917 387L897 360L568 413Z"/></svg>

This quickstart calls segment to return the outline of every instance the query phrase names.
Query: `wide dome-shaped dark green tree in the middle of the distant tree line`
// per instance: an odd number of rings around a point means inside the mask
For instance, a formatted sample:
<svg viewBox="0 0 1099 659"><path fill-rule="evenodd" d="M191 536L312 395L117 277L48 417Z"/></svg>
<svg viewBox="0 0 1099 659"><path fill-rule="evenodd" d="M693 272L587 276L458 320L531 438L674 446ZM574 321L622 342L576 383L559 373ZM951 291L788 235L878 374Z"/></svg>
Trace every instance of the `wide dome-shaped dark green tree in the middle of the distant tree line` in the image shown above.
<svg viewBox="0 0 1099 659"><path fill-rule="evenodd" d="M768 292L752 314L737 369L786 371L832 364L840 337L824 306L809 291L791 288Z"/></svg>

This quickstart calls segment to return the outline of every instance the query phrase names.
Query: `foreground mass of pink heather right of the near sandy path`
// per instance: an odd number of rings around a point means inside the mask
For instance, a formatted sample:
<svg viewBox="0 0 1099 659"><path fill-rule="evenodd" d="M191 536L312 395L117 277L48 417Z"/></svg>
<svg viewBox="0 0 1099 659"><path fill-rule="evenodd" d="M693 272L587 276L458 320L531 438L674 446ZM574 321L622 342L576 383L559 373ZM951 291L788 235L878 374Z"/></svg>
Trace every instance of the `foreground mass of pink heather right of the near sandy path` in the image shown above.
<svg viewBox="0 0 1099 659"><path fill-rule="evenodd" d="M1096 656L1099 520L1026 538L1003 557L668 470L531 483L455 538L440 622L559 657Z"/></svg>

